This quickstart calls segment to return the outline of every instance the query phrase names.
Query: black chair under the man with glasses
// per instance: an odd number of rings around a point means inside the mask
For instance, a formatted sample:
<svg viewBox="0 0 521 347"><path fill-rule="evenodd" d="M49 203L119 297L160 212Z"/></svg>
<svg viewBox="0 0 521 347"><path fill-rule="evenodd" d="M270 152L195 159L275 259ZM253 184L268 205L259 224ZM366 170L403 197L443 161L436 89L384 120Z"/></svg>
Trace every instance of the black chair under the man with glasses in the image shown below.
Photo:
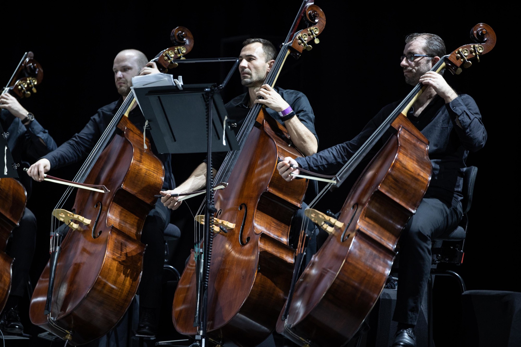
<svg viewBox="0 0 521 347"><path fill-rule="evenodd" d="M460 284L461 292L466 291L465 282L463 278L452 270L440 270L436 266L439 263L451 263L461 265L463 263L465 238L467 236L468 217L467 213L472 205L474 183L476 181L476 173L478 168L469 166L465 168L463 176L463 216L458 226L453 230L448 230L441 234L432 242L432 265L430 271L431 276L427 284L427 326L428 326L428 347L431 346L432 341L432 286L435 276L451 276Z"/></svg>

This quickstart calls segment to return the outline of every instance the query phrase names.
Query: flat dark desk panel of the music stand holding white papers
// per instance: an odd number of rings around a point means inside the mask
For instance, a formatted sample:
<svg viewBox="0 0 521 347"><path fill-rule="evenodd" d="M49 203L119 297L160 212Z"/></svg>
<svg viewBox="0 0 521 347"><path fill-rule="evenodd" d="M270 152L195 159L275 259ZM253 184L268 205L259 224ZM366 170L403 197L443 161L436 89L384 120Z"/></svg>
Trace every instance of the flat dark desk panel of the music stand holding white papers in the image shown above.
<svg viewBox="0 0 521 347"><path fill-rule="evenodd" d="M208 151L204 96L205 89L212 86L215 84L183 84L182 90L175 85L134 88L159 153ZM212 152L237 150L239 145L228 125L227 111L219 93L213 93L212 119Z"/></svg>

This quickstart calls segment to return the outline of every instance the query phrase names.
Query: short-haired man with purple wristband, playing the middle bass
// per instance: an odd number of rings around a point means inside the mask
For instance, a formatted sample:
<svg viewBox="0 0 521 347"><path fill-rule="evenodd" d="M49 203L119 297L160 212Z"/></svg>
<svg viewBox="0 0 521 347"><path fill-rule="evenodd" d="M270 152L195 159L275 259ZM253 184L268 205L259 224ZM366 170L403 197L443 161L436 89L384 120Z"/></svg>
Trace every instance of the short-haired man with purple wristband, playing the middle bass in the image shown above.
<svg viewBox="0 0 521 347"><path fill-rule="evenodd" d="M291 141L302 154L316 153L318 137L315 132L315 116L307 97L295 90L284 90L279 87L271 88L270 85L264 84L268 72L275 63L275 46L268 40L258 38L247 39L242 44L243 48L239 55L239 72L241 84L246 86L248 91L233 98L225 105L228 117L231 119L232 125L235 125L233 128L235 135L239 133L250 108L259 103L266 105L267 113L286 127ZM263 98L257 98L258 96ZM214 153L212 155L212 166L218 168L223 160L224 155L222 153ZM174 210L181 205L181 201L178 200L178 197L172 197L171 194L189 193L204 187L206 187L206 161L197 166L190 177L176 189L160 192L164 195L161 201L166 207ZM293 217L292 229L293 225L295 230L300 228L302 218L304 218L302 210L297 210ZM313 225L310 228L313 232L315 231ZM297 236L300 230L295 232L292 230L293 236ZM315 235L313 234L313 240L315 240L314 238ZM296 238L294 237L294 239ZM310 245L310 247L313 249L314 245Z"/></svg>

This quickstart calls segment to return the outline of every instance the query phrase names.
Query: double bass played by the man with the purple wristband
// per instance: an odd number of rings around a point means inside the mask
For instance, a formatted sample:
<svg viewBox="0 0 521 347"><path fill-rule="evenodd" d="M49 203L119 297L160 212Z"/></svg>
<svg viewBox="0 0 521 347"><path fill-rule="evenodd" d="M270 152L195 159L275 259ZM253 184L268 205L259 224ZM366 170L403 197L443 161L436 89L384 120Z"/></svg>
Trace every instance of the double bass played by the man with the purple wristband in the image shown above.
<svg viewBox="0 0 521 347"><path fill-rule="evenodd" d="M301 20L311 26L297 30ZM304 1L281 47L265 84L274 85L278 73L293 53L300 56L318 43L325 27L324 12L313 1ZM255 346L275 329L286 300L295 251L289 246L292 216L302 206L306 180L287 184L276 172L280 155L302 156L290 142L287 130L254 104L238 134L239 150L230 152L215 182L228 182L215 193L215 218L228 226L204 242L212 253L207 291L206 331L213 340ZM210 179L210 177L208 177ZM233 225L233 227L231 227ZM219 230L219 229L218 229ZM197 237L197 236L196 236ZM195 247L200 248L200 239ZM194 254L178 282L172 320L182 334L199 334L196 261Z"/></svg>

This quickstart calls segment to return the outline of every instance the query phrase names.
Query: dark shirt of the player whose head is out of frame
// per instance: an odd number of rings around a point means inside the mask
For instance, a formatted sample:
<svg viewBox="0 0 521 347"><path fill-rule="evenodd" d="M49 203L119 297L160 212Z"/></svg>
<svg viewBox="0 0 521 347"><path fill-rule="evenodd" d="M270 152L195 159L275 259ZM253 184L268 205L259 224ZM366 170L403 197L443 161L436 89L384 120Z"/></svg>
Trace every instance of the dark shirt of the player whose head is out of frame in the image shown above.
<svg viewBox="0 0 521 347"><path fill-rule="evenodd" d="M32 179L23 171L29 164L34 163L42 155L56 149L56 142L49 135L38 120L34 119L24 126L20 118L12 115L8 110L0 110L0 123L7 136L7 146L17 164L24 163L18 167L18 180L26 188L27 196L31 195ZM8 134L8 135L7 135Z"/></svg>

